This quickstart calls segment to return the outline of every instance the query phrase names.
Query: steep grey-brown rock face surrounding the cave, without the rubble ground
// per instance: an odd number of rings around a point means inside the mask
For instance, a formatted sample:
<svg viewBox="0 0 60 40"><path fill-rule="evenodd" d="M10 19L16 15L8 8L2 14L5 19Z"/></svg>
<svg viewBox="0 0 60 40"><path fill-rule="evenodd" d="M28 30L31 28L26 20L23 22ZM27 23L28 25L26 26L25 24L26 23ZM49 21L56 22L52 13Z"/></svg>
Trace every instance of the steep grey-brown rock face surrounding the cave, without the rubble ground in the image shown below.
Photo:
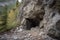
<svg viewBox="0 0 60 40"><path fill-rule="evenodd" d="M60 0L22 0L22 4L23 28L38 26L43 38L60 40Z"/></svg>

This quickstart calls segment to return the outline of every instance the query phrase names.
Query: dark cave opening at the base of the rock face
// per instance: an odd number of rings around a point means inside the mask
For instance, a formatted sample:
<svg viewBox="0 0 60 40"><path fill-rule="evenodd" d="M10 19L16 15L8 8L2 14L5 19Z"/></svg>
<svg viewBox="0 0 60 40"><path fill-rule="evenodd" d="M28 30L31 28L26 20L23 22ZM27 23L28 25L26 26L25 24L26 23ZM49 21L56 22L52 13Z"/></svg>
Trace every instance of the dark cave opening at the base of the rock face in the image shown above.
<svg viewBox="0 0 60 40"><path fill-rule="evenodd" d="M26 18L26 30L30 30L33 27L39 26L40 21L36 18L30 19Z"/></svg>

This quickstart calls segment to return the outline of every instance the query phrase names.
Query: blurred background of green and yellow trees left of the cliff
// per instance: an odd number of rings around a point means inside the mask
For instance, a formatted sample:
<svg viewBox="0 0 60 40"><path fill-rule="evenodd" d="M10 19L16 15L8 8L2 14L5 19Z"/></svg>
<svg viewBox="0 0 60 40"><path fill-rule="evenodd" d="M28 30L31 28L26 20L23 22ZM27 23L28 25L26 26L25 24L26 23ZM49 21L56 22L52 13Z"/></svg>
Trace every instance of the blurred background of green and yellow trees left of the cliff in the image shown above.
<svg viewBox="0 0 60 40"><path fill-rule="evenodd" d="M17 26L17 5L16 0L0 0L0 32Z"/></svg>

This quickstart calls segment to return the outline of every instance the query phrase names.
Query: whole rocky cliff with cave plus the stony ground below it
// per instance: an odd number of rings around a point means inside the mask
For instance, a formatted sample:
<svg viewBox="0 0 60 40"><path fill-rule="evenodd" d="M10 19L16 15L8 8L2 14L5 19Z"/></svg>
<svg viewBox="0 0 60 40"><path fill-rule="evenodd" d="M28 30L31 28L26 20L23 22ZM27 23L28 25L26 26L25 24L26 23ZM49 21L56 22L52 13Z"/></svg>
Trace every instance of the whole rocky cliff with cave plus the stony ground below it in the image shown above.
<svg viewBox="0 0 60 40"><path fill-rule="evenodd" d="M59 2L60 0L22 0L21 26L0 35L0 39L60 40Z"/></svg>

